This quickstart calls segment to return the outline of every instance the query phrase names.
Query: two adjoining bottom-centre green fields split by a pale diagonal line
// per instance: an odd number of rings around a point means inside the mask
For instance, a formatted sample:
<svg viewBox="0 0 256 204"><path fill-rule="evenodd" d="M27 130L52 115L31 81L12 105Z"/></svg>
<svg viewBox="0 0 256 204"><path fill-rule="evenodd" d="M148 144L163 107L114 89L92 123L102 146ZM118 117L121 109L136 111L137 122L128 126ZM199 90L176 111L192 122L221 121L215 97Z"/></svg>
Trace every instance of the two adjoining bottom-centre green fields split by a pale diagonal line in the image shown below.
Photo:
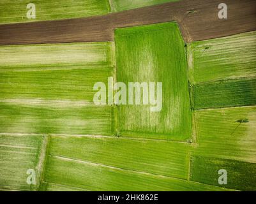
<svg viewBox="0 0 256 204"><path fill-rule="evenodd" d="M41 184L40 189L42 191L229 190L159 175L159 173L174 175L173 173L176 172L177 176L179 172L178 177L183 177L181 172L186 166L184 162L188 159L185 156L188 148L188 144L170 142L53 136L50 138L47 168L43 178L45 182Z"/></svg>

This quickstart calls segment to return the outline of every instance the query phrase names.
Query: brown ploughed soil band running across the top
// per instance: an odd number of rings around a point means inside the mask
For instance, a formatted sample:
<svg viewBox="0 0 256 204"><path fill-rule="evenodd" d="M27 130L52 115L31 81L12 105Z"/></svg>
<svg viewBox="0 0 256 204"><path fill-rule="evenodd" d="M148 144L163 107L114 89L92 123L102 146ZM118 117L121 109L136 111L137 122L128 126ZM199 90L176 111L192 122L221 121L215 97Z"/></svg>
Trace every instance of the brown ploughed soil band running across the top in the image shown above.
<svg viewBox="0 0 256 204"><path fill-rule="evenodd" d="M228 18L218 18L226 3ZM109 15L0 25L0 45L112 41L113 29L176 20L186 42L256 30L255 0L183 0Z"/></svg>

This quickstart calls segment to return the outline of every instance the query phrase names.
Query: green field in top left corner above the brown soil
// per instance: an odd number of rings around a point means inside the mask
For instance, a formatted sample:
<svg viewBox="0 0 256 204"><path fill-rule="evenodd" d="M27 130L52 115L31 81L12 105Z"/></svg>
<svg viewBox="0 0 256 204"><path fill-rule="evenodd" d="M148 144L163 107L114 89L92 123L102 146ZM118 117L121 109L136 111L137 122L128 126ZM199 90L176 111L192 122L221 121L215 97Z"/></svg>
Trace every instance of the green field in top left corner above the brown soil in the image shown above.
<svg viewBox="0 0 256 204"><path fill-rule="evenodd" d="M27 4L36 5L36 18L27 18ZM110 12L108 0L1 0L0 24L90 17Z"/></svg>

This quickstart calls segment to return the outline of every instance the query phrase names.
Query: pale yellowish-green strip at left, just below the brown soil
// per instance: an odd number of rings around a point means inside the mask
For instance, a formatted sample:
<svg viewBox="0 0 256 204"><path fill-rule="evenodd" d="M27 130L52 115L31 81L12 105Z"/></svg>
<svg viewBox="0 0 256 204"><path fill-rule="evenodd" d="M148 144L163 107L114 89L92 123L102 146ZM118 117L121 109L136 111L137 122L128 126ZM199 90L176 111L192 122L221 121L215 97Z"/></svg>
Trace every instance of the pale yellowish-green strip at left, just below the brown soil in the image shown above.
<svg viewBox="0 0 256 204"><path fill-rule="evenodd" d="M4 45L0 71L40 71L110 67L112 43Z"/></svg>

